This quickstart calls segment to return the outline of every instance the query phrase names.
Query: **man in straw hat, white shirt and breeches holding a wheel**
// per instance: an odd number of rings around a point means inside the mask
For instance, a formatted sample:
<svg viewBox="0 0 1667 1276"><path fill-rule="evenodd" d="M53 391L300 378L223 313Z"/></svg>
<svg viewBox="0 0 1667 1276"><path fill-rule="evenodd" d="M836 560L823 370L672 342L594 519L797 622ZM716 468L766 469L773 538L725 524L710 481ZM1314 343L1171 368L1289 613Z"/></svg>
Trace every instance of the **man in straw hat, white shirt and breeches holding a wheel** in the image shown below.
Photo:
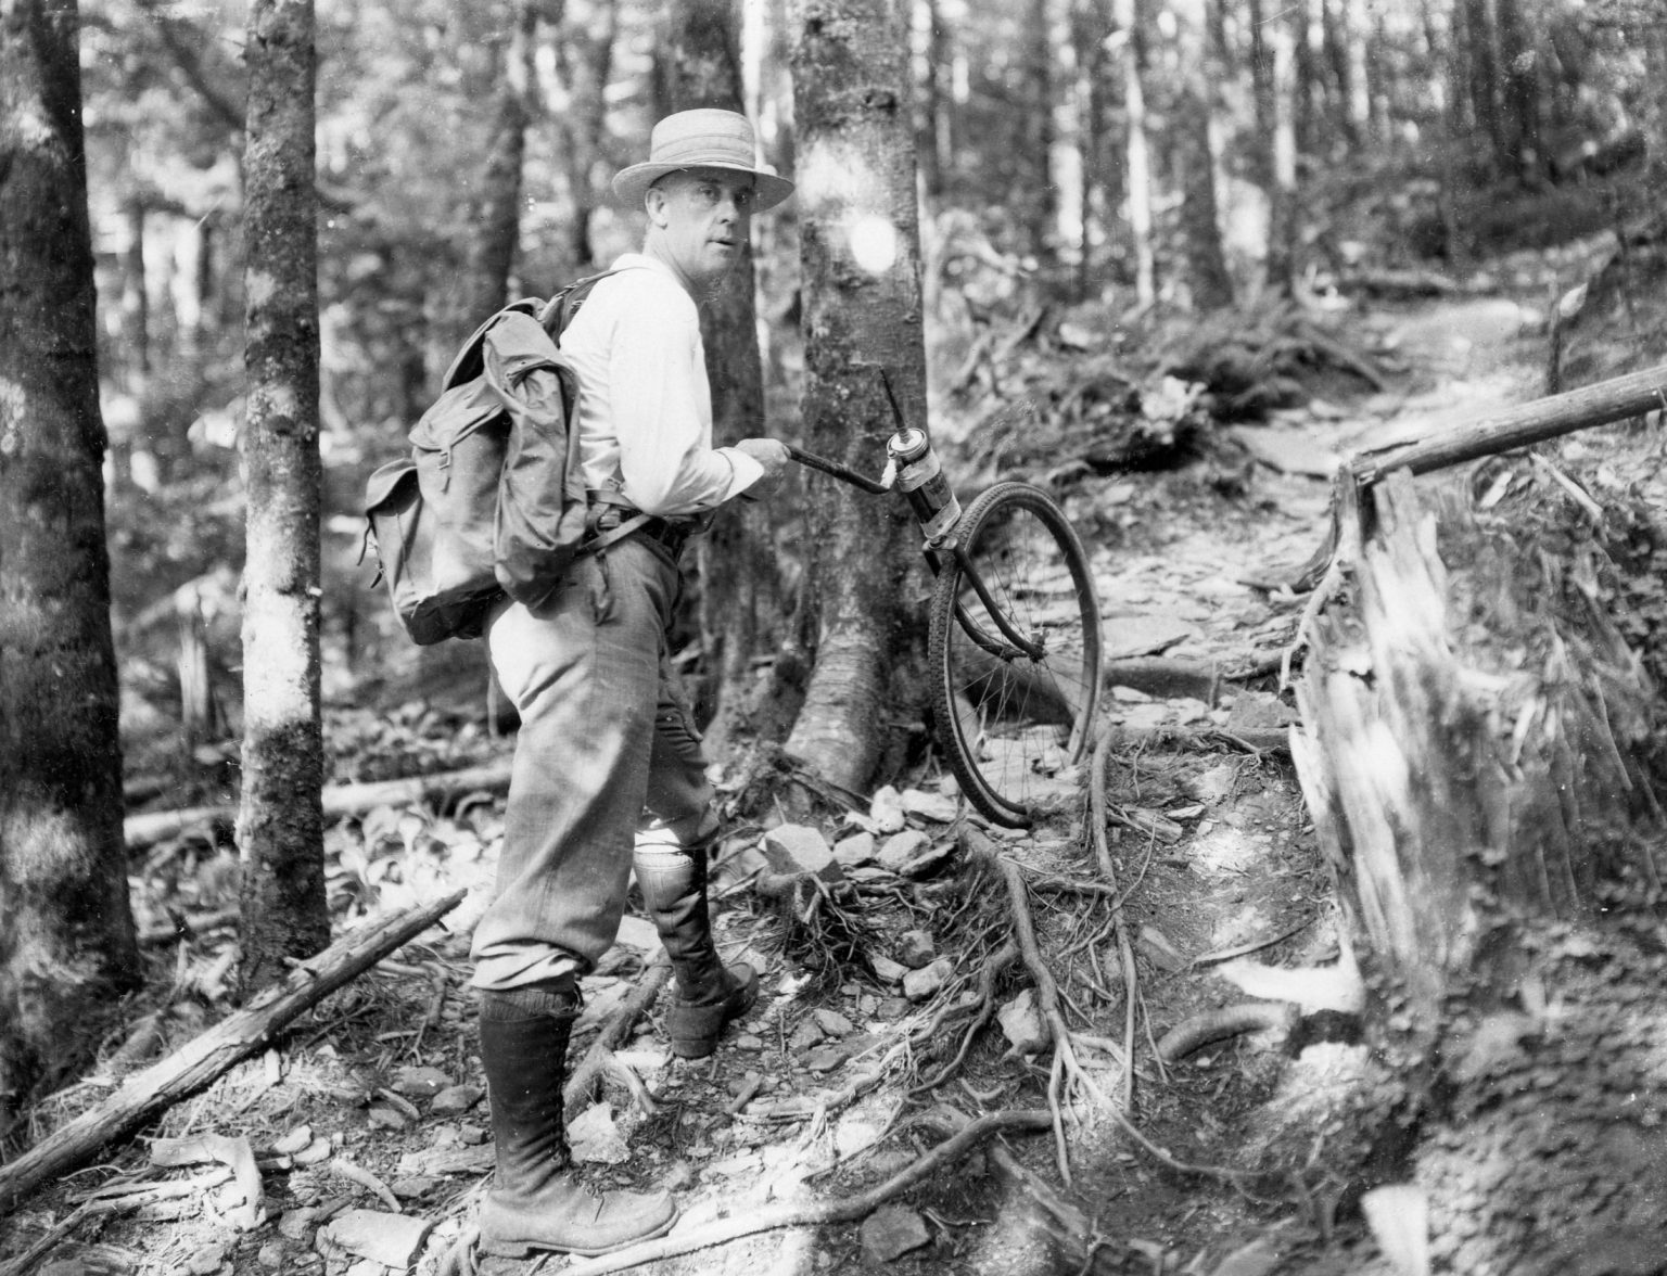
<svg viewBox="0 0 1667 1276"><path fill-rule="evenodd" d="M480 1216L488 1253L605 1253L677 1218L663 1191L583 1188L562 1123L578 978L613 943L633 861L675 974L672 1049L710 1054L757 998L757 973L725 968L712 945L705 878L717 818L665 628L685 536L723 501L768 490L787 463L768 438L712 446L697 303L740 258L752 213L792 188L755 165L745 117L667 117L648 162L613 178L613 192L648 215L643 248L615 262L562 336L578 376L593 526L638 513L648 521L580 558L537 611L500 605L488 636L522 720L493 903L473 940L497 1141L497 1183Z"/></svg>

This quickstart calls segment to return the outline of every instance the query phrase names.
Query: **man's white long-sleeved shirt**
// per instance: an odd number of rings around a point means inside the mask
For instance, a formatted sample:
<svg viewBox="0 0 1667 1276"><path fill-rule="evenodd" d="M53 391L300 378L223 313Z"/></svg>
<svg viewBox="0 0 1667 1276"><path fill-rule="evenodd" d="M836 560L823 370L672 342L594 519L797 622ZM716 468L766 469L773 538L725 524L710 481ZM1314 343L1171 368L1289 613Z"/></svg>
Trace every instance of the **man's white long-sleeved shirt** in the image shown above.
<svg viewBox="0 0 1667 1276"><path fill-rule="evenodd" d="M663 262L625 253L562 335L578 373L585 486L660 518L712 510L763 476L712 446L712 388L693 298Z"/></svg>

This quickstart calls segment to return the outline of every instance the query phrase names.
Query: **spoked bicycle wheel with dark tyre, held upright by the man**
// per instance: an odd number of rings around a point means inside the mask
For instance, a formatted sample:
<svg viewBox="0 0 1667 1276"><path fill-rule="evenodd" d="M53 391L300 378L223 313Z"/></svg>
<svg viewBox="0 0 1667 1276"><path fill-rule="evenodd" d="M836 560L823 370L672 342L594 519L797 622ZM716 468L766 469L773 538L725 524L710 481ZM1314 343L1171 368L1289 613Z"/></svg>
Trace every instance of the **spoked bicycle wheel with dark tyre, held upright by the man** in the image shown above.
<svg viewBox="0 0 1667 1276"><path fill-rule="evenodd" d="M1075 796L1070 768L1092 738L1100 696L1094 578L1064 511L1027 483L982 493L955 538L995 606L1044 653L1032 660L1005 641L962 560L947 556L932 596L934 725L967 800L997 825L1027 828L1045 806Z"/></svg>

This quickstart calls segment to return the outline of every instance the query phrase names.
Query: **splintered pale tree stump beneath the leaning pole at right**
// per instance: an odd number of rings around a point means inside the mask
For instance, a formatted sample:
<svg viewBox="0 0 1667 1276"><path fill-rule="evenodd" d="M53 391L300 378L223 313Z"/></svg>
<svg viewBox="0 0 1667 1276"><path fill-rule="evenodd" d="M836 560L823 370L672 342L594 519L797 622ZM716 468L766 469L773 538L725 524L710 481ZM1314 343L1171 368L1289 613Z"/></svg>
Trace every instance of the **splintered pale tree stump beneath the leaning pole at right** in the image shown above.
<svg viewBox="0 0 1667 1276"><path fill-rule="evenodd" d="M1355 545L1302 635L1315 828L1357 938L1429 1011L1454 976L1505 976L1499 925L1659 890L1657 690L1600 605L1585 515L1522 525L1559 495L1529 486L1482 525L1462 483L1397 471L1365 506L1345 483Z"/></svg>

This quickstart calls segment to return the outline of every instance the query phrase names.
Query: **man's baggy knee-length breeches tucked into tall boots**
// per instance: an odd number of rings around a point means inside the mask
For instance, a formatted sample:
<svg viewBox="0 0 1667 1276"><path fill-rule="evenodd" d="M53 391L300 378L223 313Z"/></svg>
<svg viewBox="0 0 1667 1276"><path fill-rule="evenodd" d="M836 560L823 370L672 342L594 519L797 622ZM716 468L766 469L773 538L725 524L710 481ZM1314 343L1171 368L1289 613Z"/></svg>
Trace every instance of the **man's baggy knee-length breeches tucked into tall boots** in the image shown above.
<svg viewBox="0 0 1667 1276"><path fill-rule="evenodd" d="M477 988L583 974L618 931L638 826L700 815L705 756L667 658L678 571L630 536L537 611L500 605L492 663L520 711Z"/></svg>

